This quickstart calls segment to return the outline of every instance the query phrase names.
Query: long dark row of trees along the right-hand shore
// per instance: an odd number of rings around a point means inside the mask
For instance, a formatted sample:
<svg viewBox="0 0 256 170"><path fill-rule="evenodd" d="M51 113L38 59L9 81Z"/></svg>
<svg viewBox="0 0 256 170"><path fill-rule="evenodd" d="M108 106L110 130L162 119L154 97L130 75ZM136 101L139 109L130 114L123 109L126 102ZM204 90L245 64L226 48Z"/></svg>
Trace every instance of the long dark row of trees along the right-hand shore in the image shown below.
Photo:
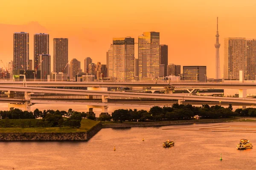
<svg viewBox="0 0 256 170"><path fill-rule="evenodd" d="M109 121L162 121L175 119L192 119L194 116L200 116L201 119L220 119L232 116L238 116L237 112L233 112L232 105L228 108L219 105L209 106L202 105L201 107L188 105L173 104L171 107L154 106L149 111L137 109L118 109L113 111L112 116L100 115L98 120Z"/></svg>

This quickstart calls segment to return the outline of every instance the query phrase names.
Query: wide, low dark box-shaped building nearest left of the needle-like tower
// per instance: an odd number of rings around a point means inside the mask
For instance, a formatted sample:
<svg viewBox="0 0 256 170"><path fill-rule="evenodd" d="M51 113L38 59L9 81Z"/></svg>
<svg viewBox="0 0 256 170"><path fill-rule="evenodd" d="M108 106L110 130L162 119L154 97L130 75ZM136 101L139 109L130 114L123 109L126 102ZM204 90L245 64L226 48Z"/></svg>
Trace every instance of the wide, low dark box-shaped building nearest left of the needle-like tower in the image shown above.
<svg viewBox="0 0 256 170"><path fill-rule="evenodd" d="M183 80L206 82L206 66L183 66Z"/></svg>

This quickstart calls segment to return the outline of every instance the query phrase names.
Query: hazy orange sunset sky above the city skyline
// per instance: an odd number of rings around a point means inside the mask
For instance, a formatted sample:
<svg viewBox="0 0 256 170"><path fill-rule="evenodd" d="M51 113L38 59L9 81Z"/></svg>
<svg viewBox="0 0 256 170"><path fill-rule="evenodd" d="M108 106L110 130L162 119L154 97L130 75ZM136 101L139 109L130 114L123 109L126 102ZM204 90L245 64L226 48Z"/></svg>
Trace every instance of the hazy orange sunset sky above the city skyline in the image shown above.
<svg viewBox="0 0 256 170"><path fill-rule="evenodd" d="M256 38L255 9L255 0L0 0L0 59L12 60L12 35L20 31L29 32L33 59L33 34L44 32L51 56L52 39L68 38L69 60L83 69L85 57L106 64L113 37L138 42L143 31L158 31L160 43L169 45L169 63L206 65L213 78L216 17L223 74L224 38Z"/></svg>

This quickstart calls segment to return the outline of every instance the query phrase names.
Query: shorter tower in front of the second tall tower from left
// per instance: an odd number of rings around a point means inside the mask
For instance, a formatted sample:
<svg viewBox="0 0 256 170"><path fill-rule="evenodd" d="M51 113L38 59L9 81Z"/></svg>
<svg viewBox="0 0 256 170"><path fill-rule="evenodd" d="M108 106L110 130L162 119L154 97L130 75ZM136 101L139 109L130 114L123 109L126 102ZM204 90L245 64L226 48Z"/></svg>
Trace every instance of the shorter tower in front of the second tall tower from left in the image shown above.
<svg viewBox="0 0 256 170"><path fill-rule="evenodd" d="M41 74L41 80L47 81L47 76L51 74L51 55L39 54L38 62L41 63L38 66L38 70Z"/></svg>

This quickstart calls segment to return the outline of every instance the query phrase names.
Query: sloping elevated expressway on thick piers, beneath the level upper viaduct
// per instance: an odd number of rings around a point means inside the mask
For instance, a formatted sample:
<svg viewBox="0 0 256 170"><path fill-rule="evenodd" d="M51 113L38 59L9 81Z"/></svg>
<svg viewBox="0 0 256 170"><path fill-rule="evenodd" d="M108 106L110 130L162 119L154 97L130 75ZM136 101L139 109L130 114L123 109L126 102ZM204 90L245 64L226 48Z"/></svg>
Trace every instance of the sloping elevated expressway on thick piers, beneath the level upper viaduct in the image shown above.
<svg viewBox="0 0 256 170"><path fill-rule="evenodd" d="M111 96L119 97L133 97L133 98L149 98L149 99L175 99L178 100L178 103L184 101L198 101L198 102L227 102L234 103L237 105L256 105L256 100L251 98L232 98L232 97L212 97L212 96L192 96L192 95L183 95L183 94L147 94L147 93L134 93L134 92L118 92L118 91L107 91L107 88L88 88L89 90L76 90L76 89L60 89L60 88L38 88L38 87L18 87L18 86L0 86L0 91L15 91L15 92L24 92L24 99L3 99L1 101L9 100L9 108L17 107L20 103L23 104L25 110L30 110L30 106L36 103L52 103L52 100L40 100L40 99L31 99L31 94L70 94L70 95L88 95L88 96L102 96L102 102L88 102L84 101L81 104L87 105L89 112L93 108L101 108L103 113L107 113L108 106L115 105L115 103L109 103L108 99ZM91 90L90 90L91 89ZM11 93L10 93L11 94ZM13 103L12 103L13 102ZM58 101L55 102L75 102L75 101ZM78 102L76 102L78 103ZM128 104L126 102L125 104ZM139 103L139 102L137 102ZM142 103L142 102L141 102ZM131 103L130 104L136 104ZM150 105L148 103L147 105ZM116 105L117 106L117 105Z"/></svg>

